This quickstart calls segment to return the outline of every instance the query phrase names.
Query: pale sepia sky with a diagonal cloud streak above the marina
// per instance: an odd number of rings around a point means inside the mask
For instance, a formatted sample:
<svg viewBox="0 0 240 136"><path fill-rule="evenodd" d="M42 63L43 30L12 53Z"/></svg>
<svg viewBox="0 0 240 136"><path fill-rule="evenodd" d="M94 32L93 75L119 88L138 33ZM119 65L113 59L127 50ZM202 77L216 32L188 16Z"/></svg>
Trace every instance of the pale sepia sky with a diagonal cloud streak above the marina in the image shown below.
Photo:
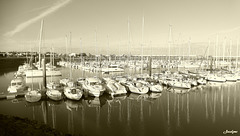
<svg viewBox="0 0 240 136"><path fill-rule="evenodd" d="M204 55L209 47L221 55L225 45L227 54L240 35L239 7L239 0L1 0L0 51L37 51L44 20L42 52L167 55L170 45L170 54Z"/></svg>

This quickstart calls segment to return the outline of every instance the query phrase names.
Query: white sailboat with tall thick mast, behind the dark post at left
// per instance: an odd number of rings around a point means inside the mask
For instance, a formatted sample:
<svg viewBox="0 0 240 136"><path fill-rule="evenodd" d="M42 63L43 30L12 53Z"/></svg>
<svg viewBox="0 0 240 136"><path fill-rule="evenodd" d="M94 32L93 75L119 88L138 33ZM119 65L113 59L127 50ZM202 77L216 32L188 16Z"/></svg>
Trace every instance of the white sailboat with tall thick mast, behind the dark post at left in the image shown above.
<svg viewBox="0 0 240 136"><path fill-rule="evenodd" d="M43 69L41 67L41 45L42 45L42 33L43 33L43 20L41 22L40 29L40 39L39 39L39 63L36 64L38 69L35 70L26 70L26 77L43 77ZM62 73L59 70L55 70L54 68L47 68L46 76L61 76Z"/></svg>

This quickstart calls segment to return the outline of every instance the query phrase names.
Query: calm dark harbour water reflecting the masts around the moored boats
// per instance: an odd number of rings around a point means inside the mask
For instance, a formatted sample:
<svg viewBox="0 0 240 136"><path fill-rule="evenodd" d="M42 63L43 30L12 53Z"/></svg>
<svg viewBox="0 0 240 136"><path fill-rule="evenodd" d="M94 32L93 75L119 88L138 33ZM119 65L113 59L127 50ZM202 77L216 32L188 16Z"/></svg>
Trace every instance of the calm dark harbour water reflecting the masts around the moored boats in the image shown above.
<svg viewBox="0 0 240 136"><path fill-rule="evenodd" d="M62 77L47 81L69 76L68 68L61 71ZM14 72L5 70L0 75L1 92L7 90ZM76 79L96 74L73 70L72 75ZM41 82L41 78L26 79L34 88L41 87ZM0 113L37 120L72 135L221 136L225 130L236 130L234 135L240 135L240 82L200 86L185 94L176 92L115 98L104 94L60 102L1 100Z"/></svg>

